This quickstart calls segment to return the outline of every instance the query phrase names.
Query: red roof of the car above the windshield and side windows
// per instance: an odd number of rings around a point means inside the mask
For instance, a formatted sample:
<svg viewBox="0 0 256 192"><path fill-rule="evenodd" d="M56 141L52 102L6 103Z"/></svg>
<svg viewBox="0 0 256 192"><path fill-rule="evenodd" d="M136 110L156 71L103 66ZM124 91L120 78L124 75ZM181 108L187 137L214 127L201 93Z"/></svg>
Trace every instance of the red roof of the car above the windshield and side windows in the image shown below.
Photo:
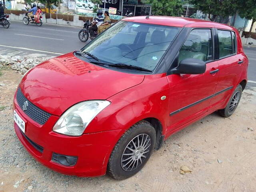
<svg viewBox="0 0 256 192"><path fill-rule="evenodd" d="M226 30L235 30L235 28L225 24L220 24L220 23L201 20L201 19L184 18L184 17L150 16L147 19L146 16L137 16L137 17L124 18L122 20L128 21L128 22L174 26L174 27L205 27L205 28L220 28L220 29L226 29Z"/></svg>

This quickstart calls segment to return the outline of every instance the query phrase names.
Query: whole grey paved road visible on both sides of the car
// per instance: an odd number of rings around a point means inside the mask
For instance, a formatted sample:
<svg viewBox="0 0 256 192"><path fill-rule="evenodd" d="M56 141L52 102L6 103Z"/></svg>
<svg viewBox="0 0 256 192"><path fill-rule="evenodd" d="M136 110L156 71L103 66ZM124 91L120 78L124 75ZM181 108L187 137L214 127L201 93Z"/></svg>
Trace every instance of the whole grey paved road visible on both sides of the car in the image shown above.
<svg viewBox="0 0 256 192"><path fill-rule="evenodd" d="M41 53L58 56L59 54L79 50L86 44L78 39L78 32L81 28L51 24L43 24L42 27L34 24L26 26L22 22L11 21L9 29L0 27L0 54L14 50L17 54L38 53L34 50L42 50L46 52ZM1 45L13 47L3 47ZM256 86L256 47L244 46L244 51L250 61L248 80L251 82L248 82L248 85Z"/></svg>

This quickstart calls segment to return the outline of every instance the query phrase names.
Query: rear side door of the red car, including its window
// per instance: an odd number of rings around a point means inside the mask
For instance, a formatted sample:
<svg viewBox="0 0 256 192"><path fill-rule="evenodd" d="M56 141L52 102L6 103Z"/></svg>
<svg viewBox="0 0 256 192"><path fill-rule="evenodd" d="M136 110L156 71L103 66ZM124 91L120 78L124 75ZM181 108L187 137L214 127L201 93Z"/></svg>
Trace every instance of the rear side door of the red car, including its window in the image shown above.
<svg viewBox="0 0 256 192"><path fill-rule="evenodd" d="M236 33L230 30L216 29L219 52L219 81L216 96L211 100L213 108L229 99L234 86L238 84L242 72L244 56L237 54Z"/></svg>

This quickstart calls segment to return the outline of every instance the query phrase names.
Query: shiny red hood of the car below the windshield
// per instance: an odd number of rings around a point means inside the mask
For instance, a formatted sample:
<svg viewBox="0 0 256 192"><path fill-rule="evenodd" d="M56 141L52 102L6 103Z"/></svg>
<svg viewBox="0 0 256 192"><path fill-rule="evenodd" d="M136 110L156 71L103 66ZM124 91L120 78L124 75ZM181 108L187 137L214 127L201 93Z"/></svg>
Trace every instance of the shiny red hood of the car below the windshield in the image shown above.
<svg viewBox="0 0 256 192"><path fill-rule="evenodd" d="M78 102L107 99L143 80L144 75L102 68L69 53L30 70L20 82L20 88L34 105L60 116Z"/></svg>

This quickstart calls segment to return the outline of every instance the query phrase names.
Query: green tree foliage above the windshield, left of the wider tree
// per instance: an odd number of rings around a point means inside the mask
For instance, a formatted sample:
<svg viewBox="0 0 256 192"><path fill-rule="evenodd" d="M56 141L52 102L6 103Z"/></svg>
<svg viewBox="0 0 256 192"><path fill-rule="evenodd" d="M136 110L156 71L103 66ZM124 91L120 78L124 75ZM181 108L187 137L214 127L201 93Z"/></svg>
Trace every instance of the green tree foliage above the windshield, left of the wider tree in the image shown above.
<svg viewBox="0 0 256 192"><path fill-rule="evenodd" d="M156 15L177 16L183 12L181 0L146 0L146 3L152 5L152 12Z"/></svg>

